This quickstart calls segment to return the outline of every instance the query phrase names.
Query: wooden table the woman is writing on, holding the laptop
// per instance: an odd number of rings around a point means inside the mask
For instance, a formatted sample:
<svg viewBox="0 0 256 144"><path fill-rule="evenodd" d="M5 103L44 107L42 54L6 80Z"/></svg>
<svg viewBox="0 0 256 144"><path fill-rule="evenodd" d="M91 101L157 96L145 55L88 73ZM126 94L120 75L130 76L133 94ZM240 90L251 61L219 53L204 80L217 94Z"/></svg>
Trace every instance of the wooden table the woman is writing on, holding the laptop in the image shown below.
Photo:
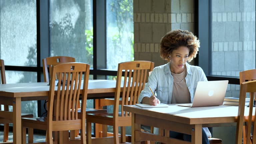
<svg viewBox="0 0 256 144"><path fill-rule="evenodd" d="M202 127L236 126L238 106L140 108L125 105L124 111L132 113L132 144L152 140L164 143L202 144ZM245 116L249 108L245 109ZM191 135L192 142L141 132L141 124Z"/></svg>

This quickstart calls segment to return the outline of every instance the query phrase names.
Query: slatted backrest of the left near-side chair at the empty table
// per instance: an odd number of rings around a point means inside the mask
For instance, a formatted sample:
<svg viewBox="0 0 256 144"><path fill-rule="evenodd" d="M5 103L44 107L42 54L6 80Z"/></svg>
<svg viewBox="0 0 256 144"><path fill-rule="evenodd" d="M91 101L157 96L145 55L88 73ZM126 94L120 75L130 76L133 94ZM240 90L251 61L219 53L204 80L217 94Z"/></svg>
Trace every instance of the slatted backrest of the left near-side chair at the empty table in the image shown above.
<svg viewBox="0 0 256 144"><path fill-rule="evenodd" d="M47 115L49 122L78 119L80 94L82 95L82 109L86 108L89 70L90 65L84 63L64 63L53 67L51 78L58 77L58 87L54 95L55 81L50 82L49 114ZM83 72L84 80L81 88ZM82 110L81 113L81 118L85 118L86 111Z"/></svg>

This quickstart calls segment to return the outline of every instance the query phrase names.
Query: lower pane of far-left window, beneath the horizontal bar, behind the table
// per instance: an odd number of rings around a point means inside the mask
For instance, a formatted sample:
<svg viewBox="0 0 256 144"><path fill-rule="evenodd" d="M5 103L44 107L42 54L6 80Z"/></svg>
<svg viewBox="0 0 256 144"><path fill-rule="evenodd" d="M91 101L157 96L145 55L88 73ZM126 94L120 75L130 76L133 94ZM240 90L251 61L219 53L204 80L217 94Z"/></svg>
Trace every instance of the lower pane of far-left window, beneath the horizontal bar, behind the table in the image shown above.
<svg viewBox="0 0 256 144"><path fill-rule="evenodd" d="M6 83L37 82L37 72L5 71ZM9 106L12 111L12 106ZM33 114L37 117L37 101L22 101L21 112Z"/></svg>

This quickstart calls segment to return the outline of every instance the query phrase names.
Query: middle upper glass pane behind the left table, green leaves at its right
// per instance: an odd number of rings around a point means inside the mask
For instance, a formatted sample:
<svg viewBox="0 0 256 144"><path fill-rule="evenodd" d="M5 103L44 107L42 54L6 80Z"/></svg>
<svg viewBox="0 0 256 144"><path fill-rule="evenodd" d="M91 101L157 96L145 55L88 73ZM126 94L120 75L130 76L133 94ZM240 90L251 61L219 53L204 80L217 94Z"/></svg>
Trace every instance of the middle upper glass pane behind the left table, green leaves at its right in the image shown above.
<svg viewBox="0 0 256 144"><path fill-rule="evenodd" d="M93 68L91 0L50 0L50 56L70 56Z"/></svg>

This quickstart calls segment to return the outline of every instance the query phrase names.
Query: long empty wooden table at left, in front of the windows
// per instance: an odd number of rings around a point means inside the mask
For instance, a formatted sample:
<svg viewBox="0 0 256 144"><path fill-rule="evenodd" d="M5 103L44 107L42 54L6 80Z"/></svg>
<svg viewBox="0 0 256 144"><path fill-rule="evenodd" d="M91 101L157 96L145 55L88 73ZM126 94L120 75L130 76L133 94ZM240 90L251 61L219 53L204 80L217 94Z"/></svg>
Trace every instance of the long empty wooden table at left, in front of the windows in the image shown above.
<svg viewBox="0 0 256 144"><path fill-rule="evenodd" d="M48 99L48 84L41 82L0 85L0 104L13 106L13 143L21 144L21 101ZM115 80L89 80L88 99L114 97L115 87ZM0 111L0 117L5 117L4 111Z"/></svg>

